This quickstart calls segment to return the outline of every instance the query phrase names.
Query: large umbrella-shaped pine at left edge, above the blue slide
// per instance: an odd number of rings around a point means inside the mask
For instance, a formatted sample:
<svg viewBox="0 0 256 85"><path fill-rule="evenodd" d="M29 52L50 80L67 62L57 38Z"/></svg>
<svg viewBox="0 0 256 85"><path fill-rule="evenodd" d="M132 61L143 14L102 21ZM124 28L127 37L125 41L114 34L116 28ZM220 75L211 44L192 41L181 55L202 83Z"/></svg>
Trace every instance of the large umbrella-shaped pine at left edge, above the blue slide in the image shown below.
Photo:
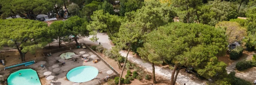
<svg viewBox="0 0 256 85"><path fill-rule="evenodd" d="M0 19L0 34L0 47L16 48L22 61L27 52L35 54L52 40L46 23L30 19Z"/></svg>

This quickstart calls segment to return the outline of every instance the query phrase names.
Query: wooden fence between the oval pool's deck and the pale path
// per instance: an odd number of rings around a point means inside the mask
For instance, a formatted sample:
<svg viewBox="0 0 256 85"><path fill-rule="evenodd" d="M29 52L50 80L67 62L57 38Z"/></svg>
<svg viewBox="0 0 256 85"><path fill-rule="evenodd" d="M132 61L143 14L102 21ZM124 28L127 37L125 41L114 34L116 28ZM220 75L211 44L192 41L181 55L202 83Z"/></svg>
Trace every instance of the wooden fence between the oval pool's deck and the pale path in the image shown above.
<svg viewBox="0 0 256 85"><path fill-rule="evenodd" d="M112 68L112 66L110 66L110 64L108 64L108 62L106 62L100 55L98 55L94 50L92 50L89 46L87 46L86 44L84 44L86 46L87 49L89 49L93 54L95 54L99 59L100 61L102 61L104 64L106 64L106 66L108 66L108 68L110 68L112 71L114 71L114 73L116 73L115 75L112 75L108 78L104 78L104 79L100 79L98 80L99 83L95 84L95 85L101 85L102 83L104 82L107 82L108 79L115 79L115 77L119 77L120 74L114 69Z"/></svg>

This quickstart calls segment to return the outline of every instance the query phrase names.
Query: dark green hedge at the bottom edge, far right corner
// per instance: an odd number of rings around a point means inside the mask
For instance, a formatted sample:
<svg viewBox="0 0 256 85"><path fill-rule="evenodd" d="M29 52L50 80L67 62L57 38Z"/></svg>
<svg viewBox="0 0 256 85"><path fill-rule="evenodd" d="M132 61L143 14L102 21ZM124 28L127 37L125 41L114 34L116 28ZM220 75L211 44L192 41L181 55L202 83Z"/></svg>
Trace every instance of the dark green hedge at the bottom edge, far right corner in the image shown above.
<svg viewBox="0 0 256 85"><path fill-rule="evenodd" d="M244 79L240 79L235 76L236 72L232 71L228 74L230 77L231 85L252 85L249 81L245 81Z"/></svg>

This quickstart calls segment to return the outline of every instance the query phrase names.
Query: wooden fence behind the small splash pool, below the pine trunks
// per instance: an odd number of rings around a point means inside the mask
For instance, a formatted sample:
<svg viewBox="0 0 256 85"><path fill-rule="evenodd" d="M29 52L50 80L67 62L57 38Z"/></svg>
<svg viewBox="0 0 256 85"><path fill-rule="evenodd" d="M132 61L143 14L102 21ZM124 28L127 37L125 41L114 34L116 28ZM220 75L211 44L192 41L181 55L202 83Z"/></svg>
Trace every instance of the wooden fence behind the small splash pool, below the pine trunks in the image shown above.
<svg viewBox="0 0 256 85"><path fill-rule="evenodd" d="M62 48L57 48L57 49L54 49L54 50L49 50L49 51L45 51L45 52L43 52L43 54L45 55L45 56L47 56L47 54L49 54L49 53L56 53L56 52L61 52L61 51L64 51L64 50L68 50L68 49L75 49L76 48L76 45L74 45L74 44L72 44L72 45L68 45L68 46L64 46L64 47L62 47Z"/></svg>

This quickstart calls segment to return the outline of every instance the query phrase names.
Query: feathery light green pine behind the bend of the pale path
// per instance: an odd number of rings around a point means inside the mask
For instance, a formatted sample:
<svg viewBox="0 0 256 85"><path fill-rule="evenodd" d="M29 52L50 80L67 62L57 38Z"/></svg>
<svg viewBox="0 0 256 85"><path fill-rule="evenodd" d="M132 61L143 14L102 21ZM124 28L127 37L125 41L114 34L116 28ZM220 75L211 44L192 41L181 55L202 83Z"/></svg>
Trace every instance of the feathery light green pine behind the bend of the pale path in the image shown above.
<svg viewBox="0 0 256 85"><path fill-rule="evenodd" d="M123 22L122 17L104 13L103 10L93 12L91 18L92 21L90 21L90 25L87 25L90 35L93 35L93 37L90 38L91 41L98 40L97 33L102 31L107 32L109 39L112 40L112 37L117 36L119 27Z"/></svg>

